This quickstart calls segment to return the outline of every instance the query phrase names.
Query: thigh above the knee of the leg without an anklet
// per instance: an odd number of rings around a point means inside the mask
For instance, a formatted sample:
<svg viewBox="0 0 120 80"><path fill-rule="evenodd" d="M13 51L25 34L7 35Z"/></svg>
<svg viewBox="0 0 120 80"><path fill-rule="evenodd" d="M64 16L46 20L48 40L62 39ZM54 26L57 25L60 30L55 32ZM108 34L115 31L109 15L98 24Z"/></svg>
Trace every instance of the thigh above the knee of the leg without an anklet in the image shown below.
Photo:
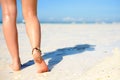
<svg viewBox="0 0 120 80"><path fill-rule="evenodd" d="M1 0L2 14L3 17L16 16L17 15L17 6L16 0Z"/></svg>

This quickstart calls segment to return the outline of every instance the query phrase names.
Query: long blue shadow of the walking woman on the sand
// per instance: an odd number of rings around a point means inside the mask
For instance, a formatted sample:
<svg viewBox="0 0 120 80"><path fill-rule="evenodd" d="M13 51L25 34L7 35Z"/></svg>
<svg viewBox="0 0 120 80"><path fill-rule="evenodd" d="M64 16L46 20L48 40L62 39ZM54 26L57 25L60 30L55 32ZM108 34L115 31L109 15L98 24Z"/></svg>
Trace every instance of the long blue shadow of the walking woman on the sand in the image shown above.
<svg viewBox="0 0 120 80"><path fill-rule="evenodd" d="M48 67L49 70L52 70L56 64L62 61L64 56L81 54L85 51L94 51L95 50L94 47L95 45L89 45L89 44L76 45L74 47L66 47L66 48L57 49L52 52L47 52L42 57L44 58L44 60L49 59ZM29 60L28 62L22 65L22 69L31 66L33 64L34 61Z"/></svg>

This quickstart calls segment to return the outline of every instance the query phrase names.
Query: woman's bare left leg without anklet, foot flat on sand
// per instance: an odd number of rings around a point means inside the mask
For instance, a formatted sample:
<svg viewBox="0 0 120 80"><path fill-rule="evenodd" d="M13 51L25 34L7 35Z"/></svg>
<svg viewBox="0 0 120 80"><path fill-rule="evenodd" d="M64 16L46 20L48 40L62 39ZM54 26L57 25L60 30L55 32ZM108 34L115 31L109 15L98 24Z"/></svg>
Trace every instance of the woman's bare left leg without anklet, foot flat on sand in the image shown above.
<svg viewBox="0 0 120 80"><path fill-rule="evenodd" d="M7 47L12 57L11 67L20 70L20 58L18 49L18 33L16 28L16 0L1 0L3 32Z"/></svg>

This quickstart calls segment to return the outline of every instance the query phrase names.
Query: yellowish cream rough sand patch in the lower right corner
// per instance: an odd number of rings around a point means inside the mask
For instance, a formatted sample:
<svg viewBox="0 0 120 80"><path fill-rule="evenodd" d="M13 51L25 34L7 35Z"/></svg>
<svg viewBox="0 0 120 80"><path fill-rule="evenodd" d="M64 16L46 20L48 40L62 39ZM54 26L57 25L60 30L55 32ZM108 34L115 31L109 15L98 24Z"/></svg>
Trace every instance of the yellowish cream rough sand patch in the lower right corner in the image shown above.
<svg viewBox="0 0 120 80"><path fill-rule="evenodd" d="M120 51L114 49L114 55L86 71L78 80L120 80Z"/></svg>

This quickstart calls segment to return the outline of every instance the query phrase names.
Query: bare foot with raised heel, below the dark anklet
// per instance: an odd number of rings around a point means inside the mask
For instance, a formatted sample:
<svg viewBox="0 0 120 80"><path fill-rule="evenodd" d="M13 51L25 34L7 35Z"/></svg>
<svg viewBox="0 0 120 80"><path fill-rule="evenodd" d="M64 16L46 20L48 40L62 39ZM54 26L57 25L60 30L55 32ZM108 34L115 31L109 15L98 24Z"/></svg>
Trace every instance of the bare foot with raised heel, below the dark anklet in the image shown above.
<svg viewBox="0 0 120 80"><path fill-rule="evenodd" d="M45 61L42 59L41 52L39 50L34 49L33 59L37 67L38 73L48 72L48 66L46 65Z"/></svg>

